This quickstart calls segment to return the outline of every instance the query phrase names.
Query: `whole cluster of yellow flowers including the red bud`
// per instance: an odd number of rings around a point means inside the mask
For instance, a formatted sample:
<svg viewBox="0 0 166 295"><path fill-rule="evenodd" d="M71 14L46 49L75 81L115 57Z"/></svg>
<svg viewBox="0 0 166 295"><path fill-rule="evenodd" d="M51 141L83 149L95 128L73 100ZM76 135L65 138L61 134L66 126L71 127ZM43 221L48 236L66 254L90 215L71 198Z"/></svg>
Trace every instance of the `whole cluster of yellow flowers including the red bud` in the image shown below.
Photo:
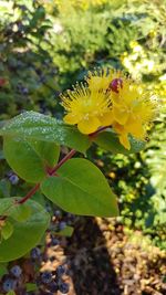
<svg viewBox="0 0 166 295"><path fill-rule="evenodd" d="M126 149L131 148L129 135L143 140L156 110L152 95L121 71L90 72L85 81L86 85L77 84L62 95L68 112L64 122L77 124L83 134L112 126Z"/></svg>

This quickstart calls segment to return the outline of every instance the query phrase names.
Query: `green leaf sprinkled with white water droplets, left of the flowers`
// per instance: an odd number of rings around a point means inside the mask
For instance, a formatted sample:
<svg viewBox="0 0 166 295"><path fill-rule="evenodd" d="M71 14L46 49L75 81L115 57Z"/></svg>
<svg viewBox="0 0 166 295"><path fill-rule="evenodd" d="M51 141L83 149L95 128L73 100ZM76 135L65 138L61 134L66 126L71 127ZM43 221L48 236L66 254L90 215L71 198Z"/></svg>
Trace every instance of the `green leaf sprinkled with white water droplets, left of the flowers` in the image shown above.
<svg viewBox="0 0 166 295"><path fill-rule="evenodd" d="M0 135L56 143L81 152L91 145L89 136L81 134L75 127L35 112L25 112L14 117L0 129Z"/></svg>

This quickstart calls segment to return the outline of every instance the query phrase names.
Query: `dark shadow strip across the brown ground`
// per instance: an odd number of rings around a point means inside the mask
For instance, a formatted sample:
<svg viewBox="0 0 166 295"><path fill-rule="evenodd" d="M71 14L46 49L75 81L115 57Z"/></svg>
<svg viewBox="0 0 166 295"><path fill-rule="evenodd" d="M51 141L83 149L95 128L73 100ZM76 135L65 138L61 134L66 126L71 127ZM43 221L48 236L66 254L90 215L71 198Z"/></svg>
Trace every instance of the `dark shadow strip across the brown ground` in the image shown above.
<svg viewBox="0 0 166 295"><path fill-rule="evenodd" d="M122 294L111 263L105 238L93 218L80 219L65 255L76 295Z"/></svg>

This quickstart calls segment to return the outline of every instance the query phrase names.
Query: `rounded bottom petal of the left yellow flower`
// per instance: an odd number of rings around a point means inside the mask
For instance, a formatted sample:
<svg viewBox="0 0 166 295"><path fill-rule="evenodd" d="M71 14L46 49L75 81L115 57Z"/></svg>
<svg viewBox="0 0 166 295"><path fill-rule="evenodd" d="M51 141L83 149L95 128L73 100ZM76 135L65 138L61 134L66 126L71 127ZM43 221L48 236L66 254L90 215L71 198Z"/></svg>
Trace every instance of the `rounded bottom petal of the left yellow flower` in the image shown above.
<svg viewBox="0 0 166 295"><path fill-rule="evenodd" d="M97 130L101 126L101 122L96 117L90 117L89 119L83 119L77 124L77 129L82 134L92 134Z"/></svg>

